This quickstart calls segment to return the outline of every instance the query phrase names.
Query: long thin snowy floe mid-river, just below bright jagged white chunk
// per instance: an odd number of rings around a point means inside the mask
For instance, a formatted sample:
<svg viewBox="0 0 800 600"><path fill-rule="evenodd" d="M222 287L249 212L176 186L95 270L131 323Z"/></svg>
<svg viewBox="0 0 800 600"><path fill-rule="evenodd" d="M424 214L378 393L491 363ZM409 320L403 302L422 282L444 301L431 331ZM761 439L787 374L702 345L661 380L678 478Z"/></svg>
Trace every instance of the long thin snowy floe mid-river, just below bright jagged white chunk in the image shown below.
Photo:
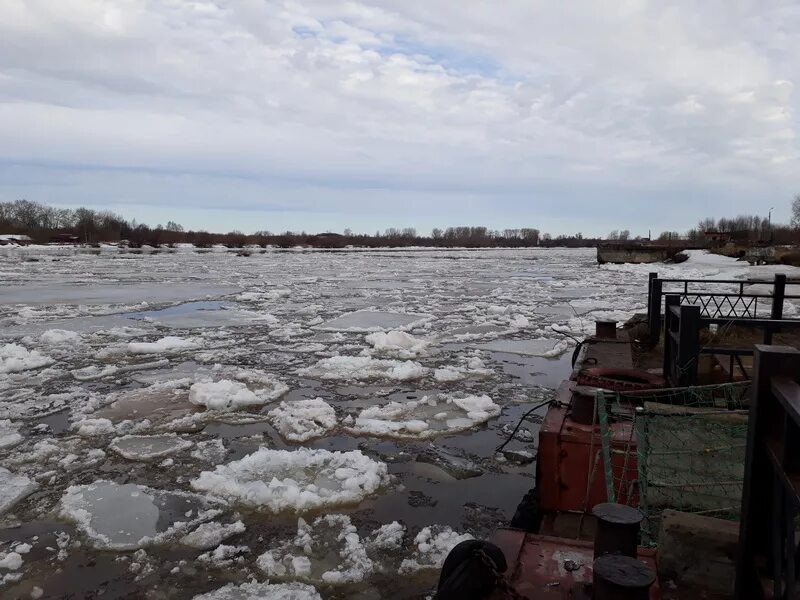
<svg viewBox="0 0 800 600"><path fill-rule="evenodd" d="M315 365L298 370L298 374L320 379L395 379L408 381L420 379L428 369L418 362L382 360L369 356L332 356Z"/></svg>

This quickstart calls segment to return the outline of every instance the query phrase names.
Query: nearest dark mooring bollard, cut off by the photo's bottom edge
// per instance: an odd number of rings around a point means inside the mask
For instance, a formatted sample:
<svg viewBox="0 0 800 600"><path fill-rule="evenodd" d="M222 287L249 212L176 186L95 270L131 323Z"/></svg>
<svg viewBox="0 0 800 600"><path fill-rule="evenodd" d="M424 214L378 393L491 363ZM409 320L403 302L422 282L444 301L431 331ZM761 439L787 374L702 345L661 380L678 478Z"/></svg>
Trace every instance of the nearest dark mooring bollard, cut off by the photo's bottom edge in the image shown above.
<svg viewBox="0 0 800 600"><path fill-rule="evenodd" d="M653 569L630 556L606 554L594 561L594 600L647 600Z"/></svg>

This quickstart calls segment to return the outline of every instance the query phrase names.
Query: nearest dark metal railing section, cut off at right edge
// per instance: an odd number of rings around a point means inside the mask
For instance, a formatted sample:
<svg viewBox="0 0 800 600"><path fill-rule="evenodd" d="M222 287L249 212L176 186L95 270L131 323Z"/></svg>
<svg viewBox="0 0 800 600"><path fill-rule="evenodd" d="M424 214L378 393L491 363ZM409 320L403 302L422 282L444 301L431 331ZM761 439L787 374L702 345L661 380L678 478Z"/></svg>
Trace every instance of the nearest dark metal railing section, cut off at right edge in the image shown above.
<svg viewBox="0 0 800 600"><path fill-rule="evenodd" d="M800 597L795 521L800 514L800 351L755 349L747 432L736 598ZM771 588L771 589L769 589Z"/></svg>

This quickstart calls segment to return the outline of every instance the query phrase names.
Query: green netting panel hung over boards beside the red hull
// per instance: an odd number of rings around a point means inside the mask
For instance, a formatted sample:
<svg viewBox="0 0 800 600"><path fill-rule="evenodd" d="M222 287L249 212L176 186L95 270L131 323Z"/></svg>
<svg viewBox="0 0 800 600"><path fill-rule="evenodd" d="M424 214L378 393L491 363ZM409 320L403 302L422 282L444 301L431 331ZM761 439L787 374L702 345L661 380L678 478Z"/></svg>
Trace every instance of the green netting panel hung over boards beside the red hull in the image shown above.
<svg viewBox="0 0 800 600"><path fill-rule="evenodd" d="M665 509L739 518L749 389L744 382L598 392L608 498L642 510L644 543L657 543ZM630 432L624 443L620 430Z"/></svg>

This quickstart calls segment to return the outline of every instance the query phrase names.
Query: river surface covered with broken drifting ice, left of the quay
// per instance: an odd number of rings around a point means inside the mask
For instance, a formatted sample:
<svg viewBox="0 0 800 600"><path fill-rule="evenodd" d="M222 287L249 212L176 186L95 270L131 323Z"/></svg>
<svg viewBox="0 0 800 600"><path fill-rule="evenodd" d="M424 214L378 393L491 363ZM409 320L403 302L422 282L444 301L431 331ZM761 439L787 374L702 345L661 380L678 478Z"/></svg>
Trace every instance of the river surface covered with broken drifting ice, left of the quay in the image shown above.
<svg viewBox="0 0 800 600"><path fill-rule="evenodd" d="M650 270L594 250L0 249L0 596L426 593L532 486L536 423L494 448L569 373L564 334L643 311Z"/></svg>

